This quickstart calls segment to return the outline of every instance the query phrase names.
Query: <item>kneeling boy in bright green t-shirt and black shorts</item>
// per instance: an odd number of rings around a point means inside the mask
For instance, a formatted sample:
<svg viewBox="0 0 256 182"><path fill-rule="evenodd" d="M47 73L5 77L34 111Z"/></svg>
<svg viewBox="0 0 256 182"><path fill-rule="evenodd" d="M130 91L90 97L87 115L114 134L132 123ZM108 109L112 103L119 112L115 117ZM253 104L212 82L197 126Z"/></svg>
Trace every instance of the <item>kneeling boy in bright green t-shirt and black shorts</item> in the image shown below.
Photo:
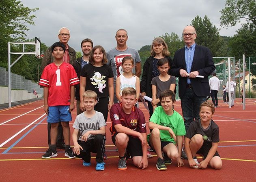
<svg viewBox="0 0 256 182"><path fill-rule="evenodd" d="M181 149L183 136L186 134L184 120L179 113L172 109L175 103L173 91L164 90L159 99L161 106L155 109L148 124L148 128L152 130L148 135L148 144L157 154L156 167L158 170L167 169L162 151L165 156L177 160L177 166L181 167L184 165L181 159Z"/></svg>

